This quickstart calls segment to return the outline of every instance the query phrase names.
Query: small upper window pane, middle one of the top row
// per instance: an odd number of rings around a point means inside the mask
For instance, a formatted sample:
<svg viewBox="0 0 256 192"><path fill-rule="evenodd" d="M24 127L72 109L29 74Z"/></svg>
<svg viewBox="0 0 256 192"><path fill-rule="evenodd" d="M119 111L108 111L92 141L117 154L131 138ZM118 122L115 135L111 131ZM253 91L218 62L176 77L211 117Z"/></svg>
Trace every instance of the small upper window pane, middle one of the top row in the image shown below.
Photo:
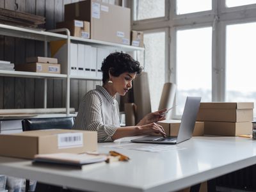
<svg viewBox="0 0 256 192"><path fill-rule="evenodd" d="M177 15L212 10L211 0L176 0Z"/></svg>

